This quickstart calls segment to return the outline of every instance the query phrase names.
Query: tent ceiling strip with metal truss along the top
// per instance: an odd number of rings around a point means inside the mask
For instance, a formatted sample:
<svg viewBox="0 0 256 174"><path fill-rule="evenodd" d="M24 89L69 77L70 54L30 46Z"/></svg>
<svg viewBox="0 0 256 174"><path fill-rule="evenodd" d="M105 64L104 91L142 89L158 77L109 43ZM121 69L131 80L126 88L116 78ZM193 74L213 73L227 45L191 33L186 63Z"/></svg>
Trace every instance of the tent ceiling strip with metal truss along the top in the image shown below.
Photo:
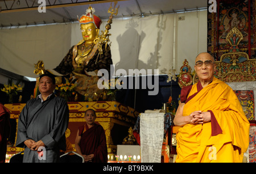
<svg viewBox="0 0 256 174"><path fill-rule="evenodd" d="M46 4L46 12L38 7ZM50 23L76 22L92 5L96 15L108 18L113 0L0 0L0 27L19 27ZM119 0L116 17L150 15L207 8L206 0Z"/></svg>

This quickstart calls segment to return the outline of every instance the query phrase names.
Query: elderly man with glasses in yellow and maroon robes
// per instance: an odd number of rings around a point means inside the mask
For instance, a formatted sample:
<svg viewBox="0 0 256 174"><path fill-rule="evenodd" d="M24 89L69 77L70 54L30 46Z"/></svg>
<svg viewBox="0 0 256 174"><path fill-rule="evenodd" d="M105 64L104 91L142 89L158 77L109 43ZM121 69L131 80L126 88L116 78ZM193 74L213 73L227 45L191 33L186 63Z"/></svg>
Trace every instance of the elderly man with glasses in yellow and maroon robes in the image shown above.
<svg viewBox="0 0 256 174"><path fill-rule="evenodd" d="M242 162L250 124L232 88L214 77L214 58L196 57L199 82L181 90L175 162Z"/></svg>

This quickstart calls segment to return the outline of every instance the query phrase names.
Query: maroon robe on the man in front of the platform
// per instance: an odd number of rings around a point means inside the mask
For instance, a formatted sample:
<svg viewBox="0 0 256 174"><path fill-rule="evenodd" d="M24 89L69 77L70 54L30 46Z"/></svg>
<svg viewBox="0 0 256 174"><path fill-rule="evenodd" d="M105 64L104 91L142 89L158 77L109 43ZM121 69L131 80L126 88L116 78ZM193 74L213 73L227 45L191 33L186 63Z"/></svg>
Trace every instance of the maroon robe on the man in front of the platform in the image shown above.
<svg viewBox="0 0 256 174"><path fill-rule="evenodd" d="M95 124L88 128L87 124L79 128L81 136L80 148L83 155L94 154L93 163L108 162L106 135L101 125Z"/></svg>

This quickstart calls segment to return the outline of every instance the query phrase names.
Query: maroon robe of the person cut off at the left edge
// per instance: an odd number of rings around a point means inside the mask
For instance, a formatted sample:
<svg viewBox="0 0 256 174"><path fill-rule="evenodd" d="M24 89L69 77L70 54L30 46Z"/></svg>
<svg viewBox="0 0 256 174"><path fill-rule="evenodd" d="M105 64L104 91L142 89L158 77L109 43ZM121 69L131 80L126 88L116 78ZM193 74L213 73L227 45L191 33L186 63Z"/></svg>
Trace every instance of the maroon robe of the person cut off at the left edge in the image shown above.
<svg viewBox="0 0 256 174"><path fill-rule="evenodd" d="M0 103L0 163L5 163L7 138L10 134L10 111Z"/></svg>

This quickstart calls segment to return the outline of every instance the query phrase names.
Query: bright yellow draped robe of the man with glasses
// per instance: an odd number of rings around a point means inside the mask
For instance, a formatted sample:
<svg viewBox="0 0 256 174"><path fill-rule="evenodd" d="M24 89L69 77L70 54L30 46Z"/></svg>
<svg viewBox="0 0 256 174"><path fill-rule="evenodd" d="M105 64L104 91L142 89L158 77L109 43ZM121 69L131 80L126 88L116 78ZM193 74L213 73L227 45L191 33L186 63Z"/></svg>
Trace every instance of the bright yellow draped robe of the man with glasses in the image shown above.
<svg viewBox="0 0 256 174"><path fill-rule="evenodd" d="M196 92L197 83L187 97ZM249 146L250 124L232 88L214 77L184 105L183 116L193 111L212 111L222 132L212 135L212 122L184 125L176 134L175 162L242 162Z"/></svg>

